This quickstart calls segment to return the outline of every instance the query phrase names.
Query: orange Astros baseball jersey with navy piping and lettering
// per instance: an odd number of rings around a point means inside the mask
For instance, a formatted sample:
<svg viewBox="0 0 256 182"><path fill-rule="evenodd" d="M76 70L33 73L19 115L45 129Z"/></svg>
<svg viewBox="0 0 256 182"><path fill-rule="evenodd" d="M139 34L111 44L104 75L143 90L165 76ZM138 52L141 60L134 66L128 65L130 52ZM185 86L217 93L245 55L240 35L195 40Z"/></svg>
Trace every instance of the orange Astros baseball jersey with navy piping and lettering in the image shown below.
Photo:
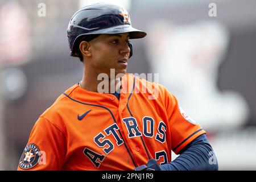
<svg viewBox="0 0 256 182"><path fill-rule="evenodd" d="M78 84L61 94L36 121L18 170L133 170L152 158L165 164L204 133L164 86L126 74L119 100Z"/></svg>

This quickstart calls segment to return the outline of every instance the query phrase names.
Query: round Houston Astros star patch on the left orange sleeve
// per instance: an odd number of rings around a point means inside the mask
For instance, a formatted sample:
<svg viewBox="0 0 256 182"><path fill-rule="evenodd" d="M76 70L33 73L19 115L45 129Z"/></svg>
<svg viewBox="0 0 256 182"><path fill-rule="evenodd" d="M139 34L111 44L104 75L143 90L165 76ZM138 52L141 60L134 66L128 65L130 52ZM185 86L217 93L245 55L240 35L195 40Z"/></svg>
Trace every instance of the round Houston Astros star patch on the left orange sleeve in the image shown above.
<svg viewBox="0 0 256 182"><path fill-rule="evenodd" d="M19 160L19 167L22 169L30 169L38 164L40 158L40 150L34 143L27 144L23 154Z"/></svg>

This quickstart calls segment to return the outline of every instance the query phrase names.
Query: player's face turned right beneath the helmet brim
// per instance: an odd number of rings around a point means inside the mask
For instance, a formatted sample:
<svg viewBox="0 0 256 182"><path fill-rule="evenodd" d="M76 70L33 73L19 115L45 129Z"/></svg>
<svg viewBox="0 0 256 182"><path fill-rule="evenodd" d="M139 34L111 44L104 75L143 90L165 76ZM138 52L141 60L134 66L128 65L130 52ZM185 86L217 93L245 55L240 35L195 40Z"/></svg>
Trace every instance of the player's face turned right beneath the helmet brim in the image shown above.
<svg viewBox="0 0 256 182"><path fill-rule="evenodd" d="M130 55L130 48L127 46L129 34L102 34L90 41L92 53L92 68L95 72L107 73L110 77L110 69L115 69L115 76L118 73L126 73L127 63Z"/></svg>

